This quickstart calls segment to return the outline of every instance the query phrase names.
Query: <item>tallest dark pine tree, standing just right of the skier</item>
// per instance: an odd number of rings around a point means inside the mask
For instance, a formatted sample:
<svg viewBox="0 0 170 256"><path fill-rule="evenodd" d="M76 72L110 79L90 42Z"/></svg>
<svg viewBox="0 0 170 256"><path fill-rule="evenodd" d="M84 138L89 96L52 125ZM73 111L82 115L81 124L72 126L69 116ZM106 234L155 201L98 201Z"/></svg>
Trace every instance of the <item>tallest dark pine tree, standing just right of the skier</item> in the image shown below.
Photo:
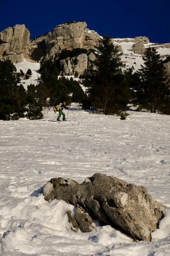
<svg viewBox="0 0 170 256"><path fill-rule="evenodd" d="M85 86L92 105L104 114L118 114L128 109L130 88L122 73L122 53L105 35L94 52L96 59L85 76Z"/></svg>

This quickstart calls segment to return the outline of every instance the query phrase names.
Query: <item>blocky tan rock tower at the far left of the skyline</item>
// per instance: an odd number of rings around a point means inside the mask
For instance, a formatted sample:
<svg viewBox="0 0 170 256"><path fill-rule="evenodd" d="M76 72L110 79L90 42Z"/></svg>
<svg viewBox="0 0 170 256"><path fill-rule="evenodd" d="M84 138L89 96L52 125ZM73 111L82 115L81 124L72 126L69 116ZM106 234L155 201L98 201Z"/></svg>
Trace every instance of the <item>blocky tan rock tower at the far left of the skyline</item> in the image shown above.
<svg viewBox="0 0 170 256"><path fill-rule="evenodd" d="M25 25L15 25L0 33L0 58L21 62L28 59L30 32Z"/></svg>

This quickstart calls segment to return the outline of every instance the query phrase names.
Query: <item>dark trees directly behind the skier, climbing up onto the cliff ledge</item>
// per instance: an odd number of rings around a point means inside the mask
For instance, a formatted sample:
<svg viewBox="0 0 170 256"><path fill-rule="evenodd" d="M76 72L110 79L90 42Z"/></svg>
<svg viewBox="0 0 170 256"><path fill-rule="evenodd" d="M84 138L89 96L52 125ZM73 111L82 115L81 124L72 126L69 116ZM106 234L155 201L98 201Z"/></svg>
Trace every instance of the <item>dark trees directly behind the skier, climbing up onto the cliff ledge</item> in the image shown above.
<svg viewBox="0 0 170 256"><path fill-rule="evenodd" d="M82 100L87 99L87 94L83 92L79 83L71 77L70 80L64 76L60 76L60 60L78 56L81 53L87 53L86 49L76 48L73 51L62 50L59 56L47 61L42 60L39 73L41 74L40 85L46 89L46 97L48 104L55 106L63 101L67 104L71 102L80 103Z"/></svg>

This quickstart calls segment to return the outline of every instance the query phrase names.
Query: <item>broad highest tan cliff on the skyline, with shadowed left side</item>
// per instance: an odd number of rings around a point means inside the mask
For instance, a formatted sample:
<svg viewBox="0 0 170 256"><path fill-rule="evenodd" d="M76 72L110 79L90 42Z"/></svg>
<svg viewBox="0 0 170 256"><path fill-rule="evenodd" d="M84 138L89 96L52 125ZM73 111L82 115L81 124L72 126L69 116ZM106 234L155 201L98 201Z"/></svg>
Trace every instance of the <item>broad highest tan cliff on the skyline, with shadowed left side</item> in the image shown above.
<svg viewBox="0 0 170 256"><path fill-rule="evenodd" d="M99 38L95 31L87 29L85 22L64 23L30 43L30 58L35 61L39 61L42 56L45 59L54 58L62 49L94 49L99 44Z"/></svg>

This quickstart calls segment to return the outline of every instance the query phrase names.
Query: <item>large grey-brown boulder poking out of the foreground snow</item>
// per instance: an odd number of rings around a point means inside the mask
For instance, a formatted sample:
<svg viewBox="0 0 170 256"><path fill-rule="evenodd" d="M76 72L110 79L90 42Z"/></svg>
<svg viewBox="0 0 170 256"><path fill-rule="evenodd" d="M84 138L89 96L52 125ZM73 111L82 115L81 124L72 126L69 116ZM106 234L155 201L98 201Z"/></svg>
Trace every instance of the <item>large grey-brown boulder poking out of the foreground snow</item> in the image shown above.
<svg viewBox="0 0 170 256"><path fill-rule="evenodd" d="M91 231L95 217L102 225L121 228L136 241L151 240L151 233L166 208L147 193L147 188L99 173L81 184L71 179L52 178L42 193L45 200L64 200L76 206L75 228Z"/></svg>

